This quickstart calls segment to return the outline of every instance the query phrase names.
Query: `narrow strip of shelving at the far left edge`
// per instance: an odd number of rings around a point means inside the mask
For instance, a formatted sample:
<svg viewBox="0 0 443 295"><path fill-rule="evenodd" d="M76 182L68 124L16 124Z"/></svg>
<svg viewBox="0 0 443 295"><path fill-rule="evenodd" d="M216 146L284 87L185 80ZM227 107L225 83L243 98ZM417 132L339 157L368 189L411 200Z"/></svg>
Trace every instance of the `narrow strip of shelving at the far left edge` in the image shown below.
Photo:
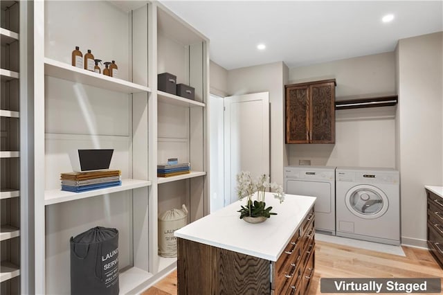
<svg viewBox="0 0 443 295"><path fill-rule="evenodd" d="M0 6L0 294L20 294L20 3Z"/></svg>

